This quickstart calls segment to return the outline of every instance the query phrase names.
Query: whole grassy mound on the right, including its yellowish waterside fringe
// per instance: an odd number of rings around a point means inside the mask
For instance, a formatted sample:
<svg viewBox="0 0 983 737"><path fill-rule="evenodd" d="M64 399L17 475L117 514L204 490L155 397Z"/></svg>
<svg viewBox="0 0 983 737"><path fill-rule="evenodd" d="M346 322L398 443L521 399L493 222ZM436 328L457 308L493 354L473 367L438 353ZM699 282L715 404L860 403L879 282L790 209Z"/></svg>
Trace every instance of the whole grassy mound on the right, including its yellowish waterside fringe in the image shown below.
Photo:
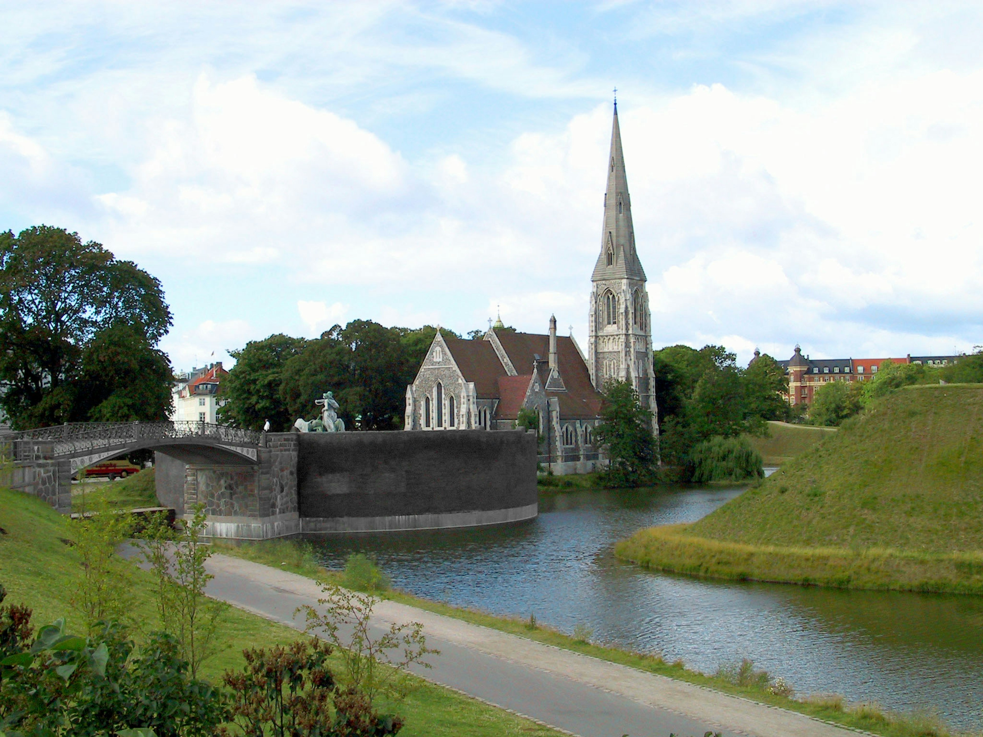
<svg viewBox="0 0 983 737"><path fill-rule="evenodd" d="M983 594L983 385L899 390L699 522L615 552L715 578Z"/></svg>

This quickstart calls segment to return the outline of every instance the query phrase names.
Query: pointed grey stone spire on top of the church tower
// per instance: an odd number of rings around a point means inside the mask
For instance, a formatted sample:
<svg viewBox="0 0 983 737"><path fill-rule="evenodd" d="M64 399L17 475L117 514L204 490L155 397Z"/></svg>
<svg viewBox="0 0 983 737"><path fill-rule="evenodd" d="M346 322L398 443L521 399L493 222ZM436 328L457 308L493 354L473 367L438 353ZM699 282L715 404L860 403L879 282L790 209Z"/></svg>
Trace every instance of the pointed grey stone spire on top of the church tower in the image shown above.
<svg viewBox="0 0 983 737"><path fill-rule="evenodd" d="M628 178L624 172L621 129L618 127L615 101L611 148L607 159L605 227L602 231L601 255L598 256L592 279L626 278L645 281L645 269L635 252L635 228L631 222L631 198L628 197Z"/></svg>

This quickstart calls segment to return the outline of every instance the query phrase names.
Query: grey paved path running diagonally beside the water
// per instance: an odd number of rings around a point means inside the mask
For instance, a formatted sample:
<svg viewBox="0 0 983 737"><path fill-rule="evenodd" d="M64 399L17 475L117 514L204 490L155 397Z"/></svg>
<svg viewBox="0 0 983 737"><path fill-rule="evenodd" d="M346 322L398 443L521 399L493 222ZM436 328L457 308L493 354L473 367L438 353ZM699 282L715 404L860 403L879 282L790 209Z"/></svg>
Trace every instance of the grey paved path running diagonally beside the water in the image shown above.
<svg viewBox="0 0 983 737"><path fill-rule="evenodd" d="M208 595L303 629L294 618L321 596L311 579L226 555L213 555ZM441 653L430 680L517 711L580 737L681 737L720 731L727 737L847 737L856 734L785 709L768 707L665 676L469 624L424 609L380 601L374 619L424 624Z"/></svg>

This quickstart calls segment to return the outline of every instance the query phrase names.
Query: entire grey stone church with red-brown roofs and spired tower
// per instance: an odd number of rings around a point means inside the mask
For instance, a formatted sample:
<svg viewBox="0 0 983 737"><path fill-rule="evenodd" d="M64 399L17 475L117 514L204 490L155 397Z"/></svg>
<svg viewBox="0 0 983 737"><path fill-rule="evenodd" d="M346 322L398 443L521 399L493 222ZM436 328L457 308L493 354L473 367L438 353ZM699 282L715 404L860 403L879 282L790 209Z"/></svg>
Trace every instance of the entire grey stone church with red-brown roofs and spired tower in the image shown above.
<svg viewBox="0 0 983 737"><path fill-rule="evenodd" d="M439 330L406 387L407 430L512 429L523 409L540 427L544 467L583 474L603 461L595 439L601 392L609 380L630 381L655 418L652 320L645 270L635 250L617 102L607 162L601 253L591 276L587 356L573 336L504 329L499 320L481 340Z"/></svg>

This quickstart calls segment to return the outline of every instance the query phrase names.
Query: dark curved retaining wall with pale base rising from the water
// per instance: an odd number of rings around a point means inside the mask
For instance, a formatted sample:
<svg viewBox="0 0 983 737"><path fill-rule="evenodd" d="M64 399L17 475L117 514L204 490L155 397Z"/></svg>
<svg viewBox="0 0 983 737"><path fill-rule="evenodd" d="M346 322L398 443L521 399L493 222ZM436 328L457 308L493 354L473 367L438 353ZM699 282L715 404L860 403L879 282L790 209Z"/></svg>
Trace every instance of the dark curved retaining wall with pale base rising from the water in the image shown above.
<svg viewBox="0 0 983 737"><path fill-rule="evenodd" d="M537 513L532 432L305 432L298 440L306 532L459 527Z"/></svg>

